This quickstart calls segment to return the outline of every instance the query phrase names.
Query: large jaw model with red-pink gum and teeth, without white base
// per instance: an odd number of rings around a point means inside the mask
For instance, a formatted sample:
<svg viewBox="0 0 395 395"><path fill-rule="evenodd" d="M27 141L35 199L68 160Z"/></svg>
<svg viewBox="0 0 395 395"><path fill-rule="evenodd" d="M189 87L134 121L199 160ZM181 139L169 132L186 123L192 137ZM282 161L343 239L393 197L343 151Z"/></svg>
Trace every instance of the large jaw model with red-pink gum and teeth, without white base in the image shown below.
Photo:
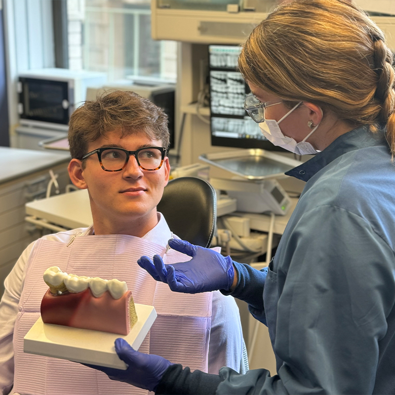
<svg viewBox="0 0 395 395"><path fill-rule="evenodd" d="M49 286L41 301L41 318L48 324L127 335L137 322L132 292L117 279L76 276L57 266L43 275Z"/></svg>

